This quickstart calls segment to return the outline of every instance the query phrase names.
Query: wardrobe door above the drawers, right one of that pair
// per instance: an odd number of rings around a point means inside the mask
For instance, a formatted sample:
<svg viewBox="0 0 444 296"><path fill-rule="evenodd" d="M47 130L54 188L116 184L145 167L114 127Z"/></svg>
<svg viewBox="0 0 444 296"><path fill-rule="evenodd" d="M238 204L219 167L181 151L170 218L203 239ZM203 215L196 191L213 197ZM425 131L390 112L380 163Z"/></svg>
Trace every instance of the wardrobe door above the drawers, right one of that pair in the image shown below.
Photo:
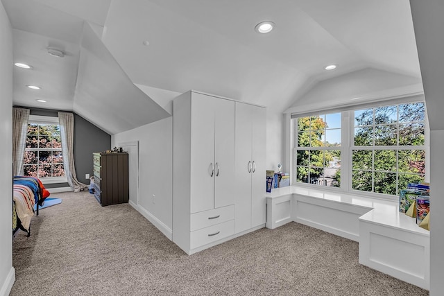
<svg viewBox="0 0 444 296"><path fill-rule="evenodd" d="M214 207L234 204L234 102L214 102Z"/></svg>

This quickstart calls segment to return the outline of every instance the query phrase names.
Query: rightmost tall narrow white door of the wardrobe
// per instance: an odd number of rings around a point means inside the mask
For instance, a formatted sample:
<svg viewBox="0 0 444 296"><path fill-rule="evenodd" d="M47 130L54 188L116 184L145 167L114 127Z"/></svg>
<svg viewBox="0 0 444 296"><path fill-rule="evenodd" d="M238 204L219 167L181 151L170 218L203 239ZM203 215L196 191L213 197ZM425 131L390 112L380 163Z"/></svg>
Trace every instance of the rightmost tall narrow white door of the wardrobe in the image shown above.
<svg viewBox="0 0 444 296"><path fill-rule="evenodd" d="M252 106L251 227L265 223L266 109Z"/></svg>

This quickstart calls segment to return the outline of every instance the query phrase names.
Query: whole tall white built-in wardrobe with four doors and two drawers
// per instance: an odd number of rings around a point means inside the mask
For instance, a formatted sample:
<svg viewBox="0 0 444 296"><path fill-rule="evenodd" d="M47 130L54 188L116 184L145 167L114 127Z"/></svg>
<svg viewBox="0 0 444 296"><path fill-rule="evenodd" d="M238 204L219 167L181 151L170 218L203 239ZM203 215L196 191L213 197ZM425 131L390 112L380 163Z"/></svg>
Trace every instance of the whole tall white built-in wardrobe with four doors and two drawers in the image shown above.
<svg viewBox="0 0 444 296"><path fill-rule="evenodd" d="M252 120L250 111L261 119ZM236 142L238 125L244 124L243 121L237 122L237 112L246 112L242 119L250 119L250 133L246 135L250 141L248 145L241 143L245 149L238 147ZM246 225L242 227L243 232L264 225L265 122L263 107L228 98L190 91L174 99L173 242L187 254L234 237L239 233L235 232L237 218L241 225ZM258 124L260 132L252 128L255 124ZM239 132L244 130L240 128ZM253 137L257 132L262 137ZM255 160L251 153L256 145L262 148L259 148L261 152ZM235 151L243 153L244 150L248 150L250 155L249 170L256 173L243 175L242 180L237 180ZM255 178L259 178L259 175L262 176L260 184ZM246 193L245 198L236 192L238 187L241 188L237 186L239 182L249 184L248 192L242 188L242 192ZM246 216L239 212L243 210ZM248 223L244 223L244 220L248 220Z"/></svg>

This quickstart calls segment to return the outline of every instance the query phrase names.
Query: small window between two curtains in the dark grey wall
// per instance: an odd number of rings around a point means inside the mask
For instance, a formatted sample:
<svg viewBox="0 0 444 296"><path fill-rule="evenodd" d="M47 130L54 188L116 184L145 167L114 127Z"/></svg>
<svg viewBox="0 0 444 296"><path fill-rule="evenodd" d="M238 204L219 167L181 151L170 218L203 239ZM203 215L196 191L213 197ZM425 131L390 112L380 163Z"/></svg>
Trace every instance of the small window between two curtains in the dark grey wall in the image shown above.
<svg viewBox="0 0 444 296"><path fill-rule="evenodd" d="M30 116L23 171L31 177L65 177L57 117Z"/></svg>

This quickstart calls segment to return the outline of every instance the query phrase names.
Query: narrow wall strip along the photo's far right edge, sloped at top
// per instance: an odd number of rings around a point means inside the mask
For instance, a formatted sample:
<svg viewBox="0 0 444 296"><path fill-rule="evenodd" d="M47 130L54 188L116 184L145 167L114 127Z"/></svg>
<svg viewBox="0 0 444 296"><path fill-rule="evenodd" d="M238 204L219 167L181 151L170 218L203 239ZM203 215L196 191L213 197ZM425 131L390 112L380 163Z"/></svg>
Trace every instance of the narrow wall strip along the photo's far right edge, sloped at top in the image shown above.
<svg viewBox="0 0 444 296"><path fill-rule="evenodd" d="M430 295L444 290L444 4L410 1L430 126Z"/></svg>

